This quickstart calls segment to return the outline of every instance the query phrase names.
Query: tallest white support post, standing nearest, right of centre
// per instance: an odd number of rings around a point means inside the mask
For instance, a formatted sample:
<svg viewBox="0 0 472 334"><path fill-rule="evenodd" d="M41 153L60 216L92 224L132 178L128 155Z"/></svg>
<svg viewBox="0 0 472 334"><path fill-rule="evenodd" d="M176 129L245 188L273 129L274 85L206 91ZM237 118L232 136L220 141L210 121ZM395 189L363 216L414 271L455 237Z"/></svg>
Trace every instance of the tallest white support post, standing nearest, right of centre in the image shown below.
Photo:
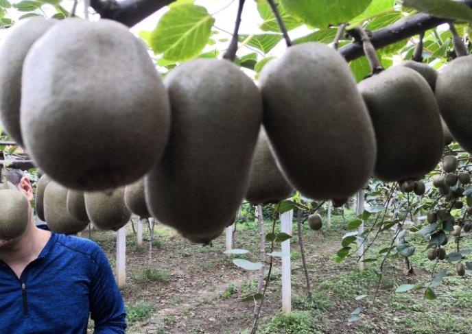
<svg viewBox="0 0 472 334"><path fill-rule="evenodd" d="M294 211L280 215L281 232L292 235L292 219ZM290 313L292 308L292 278L290 269L290 239L282 243L282 312Z"/></svg>

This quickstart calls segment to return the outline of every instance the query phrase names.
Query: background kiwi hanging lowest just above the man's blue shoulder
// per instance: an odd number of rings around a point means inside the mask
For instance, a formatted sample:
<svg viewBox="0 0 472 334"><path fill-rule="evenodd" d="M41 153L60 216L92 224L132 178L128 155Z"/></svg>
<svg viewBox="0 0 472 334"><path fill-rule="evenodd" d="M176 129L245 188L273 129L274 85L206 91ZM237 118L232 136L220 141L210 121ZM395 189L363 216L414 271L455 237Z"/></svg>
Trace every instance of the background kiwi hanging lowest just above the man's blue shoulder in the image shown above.
<svg viewBox="0 0 472 334"><path fill-rule="evenodd" d="M73 235L86 228L88 222L80 222L67 212L67 191L58 182L51 180L44 191L44 215L50 230Z"/></svg>

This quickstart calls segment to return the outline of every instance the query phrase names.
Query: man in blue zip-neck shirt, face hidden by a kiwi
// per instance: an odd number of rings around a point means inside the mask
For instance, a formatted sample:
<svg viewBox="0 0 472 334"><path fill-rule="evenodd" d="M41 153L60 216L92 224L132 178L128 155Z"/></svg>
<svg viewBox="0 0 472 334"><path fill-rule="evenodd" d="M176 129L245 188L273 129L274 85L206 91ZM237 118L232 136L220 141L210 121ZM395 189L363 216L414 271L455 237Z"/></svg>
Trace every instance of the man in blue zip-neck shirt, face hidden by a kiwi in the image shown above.
<svg viewBox="0 0 472 334"><path fill-rule="evenodd" d="M28 201L29 179L8 171ZM104 252L88 239L35 226L32 208L21 237L0 240L0 333L86 333L88 315L95 334L125 333L123 298Z"/></svg>

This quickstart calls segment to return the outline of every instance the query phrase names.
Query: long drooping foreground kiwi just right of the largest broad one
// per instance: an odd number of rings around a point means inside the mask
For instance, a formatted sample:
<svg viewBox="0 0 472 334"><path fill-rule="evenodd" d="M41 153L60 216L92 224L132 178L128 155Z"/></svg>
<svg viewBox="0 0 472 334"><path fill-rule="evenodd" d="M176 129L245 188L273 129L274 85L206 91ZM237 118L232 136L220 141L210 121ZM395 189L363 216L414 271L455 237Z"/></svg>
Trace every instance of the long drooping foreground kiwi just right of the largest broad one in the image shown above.
<svg viewBox="0 0 472 334"><path fill-rule="evenodd" d="M167 77L172 130L145 177L153 217L191 241L220 235L246 195L262 122L257 86L228 60L191 60Z"/></svg>

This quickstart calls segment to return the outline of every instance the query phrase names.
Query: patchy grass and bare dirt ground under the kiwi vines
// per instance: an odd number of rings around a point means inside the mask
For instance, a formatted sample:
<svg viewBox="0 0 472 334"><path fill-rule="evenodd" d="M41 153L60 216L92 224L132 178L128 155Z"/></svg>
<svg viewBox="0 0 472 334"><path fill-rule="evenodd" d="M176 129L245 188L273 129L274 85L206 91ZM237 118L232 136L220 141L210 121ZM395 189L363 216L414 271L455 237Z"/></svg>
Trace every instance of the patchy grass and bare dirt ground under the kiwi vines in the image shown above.
<svg viewBox="0 0 472 334"><path fill-rule="evenodd" d="M347 218L349 221L349 217ZM471 333L472 280L468 271L464 278L455 275L453 265L440 264L436 272L447 268L444 284L436 288L438 298L427 301L424 289L394 293L398 285L408 282L401 259L388 261L379 296L372 306L377 285L375 268L379 262L367 263L364 272L357 271L353 259L338 264L333 261L341 248L344 232L342 218L333 215L331 231L313 232L303 229L313 298L307 299L305 276L301 267L296 237L292 240L292 309L285 317L281 310L281 278L279 262L263 307L262 334L285 333ZM266 229L270 224L266 224ZM155 231L153 259L147 267L147 233L145 243L138 246L128 226L127 286L122 290L128 309L128 333L248 333L253 319L253 303L243 302L254 294L257 272L247 272L233 265L224 252L224 236L212 247L194 245L172 229L158 226ZM296 226L294 226L294 233ZM88 233L84 233L88 237ZM254 222L239 224L235 248L250 250L242 257L257 261L258 231ZM115 267L115 235L93 231L91 238L108 254ZM467 239L472 239L468 237ZM412 257L416 276L410 283L429 280L432 262L426 259L422 237L416 241ZM379 240L372 254L388 243ZM467 244L469 243L469 244ZM471 241L462 241L463 248ZM453 245L449 246L453 248ZM359 295L367 298L356 300ZM365 307L361 319L349 324L351 311Z"/></svg>

